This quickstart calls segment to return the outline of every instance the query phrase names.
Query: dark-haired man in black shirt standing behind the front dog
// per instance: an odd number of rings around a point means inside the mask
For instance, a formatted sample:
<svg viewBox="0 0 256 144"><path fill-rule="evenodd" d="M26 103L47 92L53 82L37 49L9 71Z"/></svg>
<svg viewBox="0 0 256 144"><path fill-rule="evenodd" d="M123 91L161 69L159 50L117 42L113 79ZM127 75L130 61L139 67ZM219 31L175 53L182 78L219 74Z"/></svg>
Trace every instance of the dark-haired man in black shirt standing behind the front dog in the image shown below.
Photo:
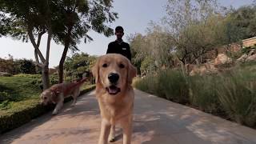
<svg viewBox="0 0 256 144"><path fill-rule="evenodd" d="M117 26L114 34L117 36L117 39L114 42L110 42L106 54L122 54L131 61L130 46L128 43L122 41L124 34L122 26Z"/></svg>

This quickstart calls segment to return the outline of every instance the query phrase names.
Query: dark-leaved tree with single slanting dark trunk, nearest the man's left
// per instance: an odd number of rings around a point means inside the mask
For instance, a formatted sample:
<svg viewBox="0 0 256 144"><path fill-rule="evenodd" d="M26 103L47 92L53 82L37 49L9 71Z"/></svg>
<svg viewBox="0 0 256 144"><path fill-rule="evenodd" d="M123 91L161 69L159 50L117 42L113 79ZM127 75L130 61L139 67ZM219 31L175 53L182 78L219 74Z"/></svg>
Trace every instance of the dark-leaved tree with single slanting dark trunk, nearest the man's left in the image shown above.
<svg viewBox="0 0 256 144"><path fill-rule="evenodd" d="M78 50L77 44L85 37L92 40L87 32L94 30L106 36L114 34L113 30L106 26L106 22L113 22L117 14L110 12L111 0L61 0L56 2L58 21L54 27L54 41L64 45L62 58L58 66L59 83L63 81L63 65L69 49Z"/></svg>

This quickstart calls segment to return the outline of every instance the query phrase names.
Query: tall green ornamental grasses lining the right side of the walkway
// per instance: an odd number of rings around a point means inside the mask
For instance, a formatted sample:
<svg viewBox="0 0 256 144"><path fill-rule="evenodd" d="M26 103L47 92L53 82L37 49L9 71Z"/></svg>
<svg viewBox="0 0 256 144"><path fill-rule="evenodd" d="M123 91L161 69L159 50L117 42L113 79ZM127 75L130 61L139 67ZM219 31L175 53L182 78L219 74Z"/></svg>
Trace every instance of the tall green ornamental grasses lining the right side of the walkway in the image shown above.
<svg viewBox="0 0 256 144"><path fill-rule="evenodd" d="M140 90L190 104L246 126L256 126L256 64L243 63L222 74L186 76L166 70L134 83Z"/></svg>

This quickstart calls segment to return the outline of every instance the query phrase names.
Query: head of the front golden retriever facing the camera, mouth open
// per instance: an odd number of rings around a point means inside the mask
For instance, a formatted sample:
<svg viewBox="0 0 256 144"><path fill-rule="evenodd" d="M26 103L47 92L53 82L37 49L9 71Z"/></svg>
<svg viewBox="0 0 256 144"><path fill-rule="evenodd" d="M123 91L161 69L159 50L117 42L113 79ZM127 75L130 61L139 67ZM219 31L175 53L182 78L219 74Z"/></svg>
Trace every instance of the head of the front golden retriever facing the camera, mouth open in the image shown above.
<svg viewBox="0 0 256 144"><path fill-rule="evenodd" d="M136 68L121 54L106 54L98 58L92 70L96 83L115 95L131 85Z"/></svg>

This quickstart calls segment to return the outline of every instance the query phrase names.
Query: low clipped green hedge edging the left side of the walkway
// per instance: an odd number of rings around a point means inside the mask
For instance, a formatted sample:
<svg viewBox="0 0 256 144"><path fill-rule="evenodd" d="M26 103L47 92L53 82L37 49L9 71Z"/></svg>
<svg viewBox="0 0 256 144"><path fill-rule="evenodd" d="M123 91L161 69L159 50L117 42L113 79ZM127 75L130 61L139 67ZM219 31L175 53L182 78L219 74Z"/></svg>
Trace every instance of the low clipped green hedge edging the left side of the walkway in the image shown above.
<svg viewBox="0 0 256 144"><path fill-rule="evenodd" d="M90 86L82 90L80 95L94 90L95 86ZM65 98L64 102L69 102L72 98ZM26 122L30 122L33 118L37 118L46 112L53 110L54 105L42 106L38 99L30 99L14 104L14 109L6 110L0 114L0 134L22 126Z"/></svg>

